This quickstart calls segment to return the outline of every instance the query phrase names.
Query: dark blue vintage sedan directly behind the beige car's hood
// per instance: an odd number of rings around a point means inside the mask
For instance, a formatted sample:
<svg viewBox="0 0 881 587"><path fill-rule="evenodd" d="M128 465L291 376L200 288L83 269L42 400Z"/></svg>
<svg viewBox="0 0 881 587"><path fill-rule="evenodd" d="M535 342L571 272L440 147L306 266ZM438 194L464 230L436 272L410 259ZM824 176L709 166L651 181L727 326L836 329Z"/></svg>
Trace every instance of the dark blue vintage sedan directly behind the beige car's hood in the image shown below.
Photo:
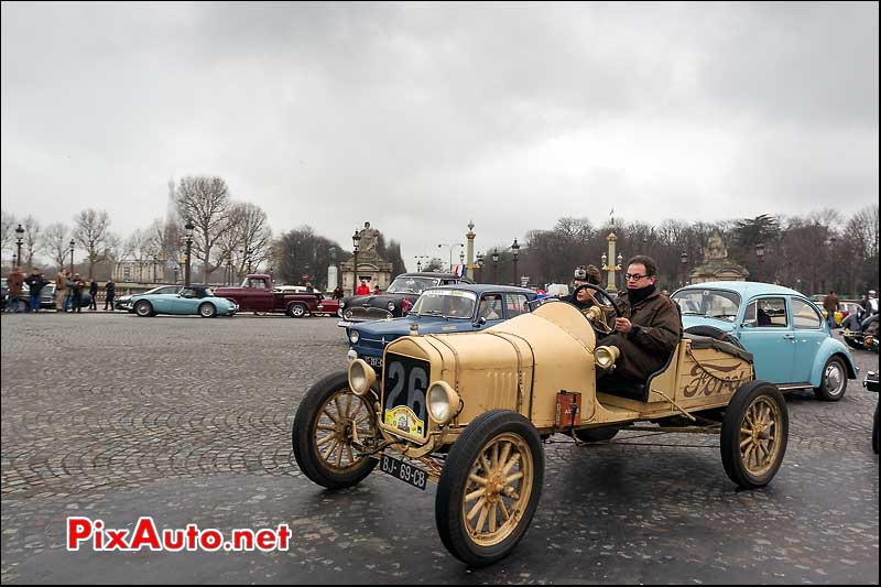
<svg viewBox="0 0 881 587"><path fill-rule="evenodd" d="M510 285L442 285L425 290L401 318L351 324L348 358L363 359L379 370L385 345L413 334L474 333L530 312L536 293Z"/></svg>

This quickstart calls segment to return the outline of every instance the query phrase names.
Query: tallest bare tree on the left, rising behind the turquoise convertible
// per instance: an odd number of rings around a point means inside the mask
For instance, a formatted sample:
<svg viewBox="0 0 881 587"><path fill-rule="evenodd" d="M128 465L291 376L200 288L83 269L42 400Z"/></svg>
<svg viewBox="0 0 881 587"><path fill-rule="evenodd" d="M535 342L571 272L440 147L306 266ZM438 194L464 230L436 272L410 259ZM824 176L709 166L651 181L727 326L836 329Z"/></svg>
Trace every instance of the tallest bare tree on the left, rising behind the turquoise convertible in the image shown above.
<svg viewBox="0 0 881 587"><path fill-rule="evenodd" d="M204 265L203 280L208 283L210 273L217 269L211 264L211 249L227 227L229 188L220 177L187 176L177 184L175 199L181 218L192 219L196 225L193 249Z"/></svg>

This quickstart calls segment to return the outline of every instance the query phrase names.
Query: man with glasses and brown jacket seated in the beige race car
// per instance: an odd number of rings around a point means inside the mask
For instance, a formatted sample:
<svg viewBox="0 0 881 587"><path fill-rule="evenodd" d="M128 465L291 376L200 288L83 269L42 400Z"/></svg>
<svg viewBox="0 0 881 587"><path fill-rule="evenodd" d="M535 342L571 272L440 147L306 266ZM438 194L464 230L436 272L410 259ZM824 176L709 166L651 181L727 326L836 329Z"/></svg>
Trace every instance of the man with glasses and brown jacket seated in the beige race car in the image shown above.
<svg viewBox="0 0 881 587"><path fill-rule="evenodd" d="M622 383L645 383L666 365L682 338L682 320L675 302L655 290L657 265L638 254L628 261L627 290L618 293L622 317L614 318L614 333L602 345L616 346L621 355L614 369ZM603 373L610 374L610 373Z"/></svg>

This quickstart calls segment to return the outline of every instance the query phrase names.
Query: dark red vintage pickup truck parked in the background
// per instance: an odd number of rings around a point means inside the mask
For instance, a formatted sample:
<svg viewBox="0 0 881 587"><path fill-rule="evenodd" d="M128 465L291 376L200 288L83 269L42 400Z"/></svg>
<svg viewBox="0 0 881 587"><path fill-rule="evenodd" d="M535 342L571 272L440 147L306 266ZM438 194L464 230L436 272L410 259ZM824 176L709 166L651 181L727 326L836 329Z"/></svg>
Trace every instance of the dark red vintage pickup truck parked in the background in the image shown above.
<svg viewBox="0 0 881 587"><path fill-rule="evenodd" d="M320 293L276 292L272 275L250 273L240 287L217 287L215 295L239 304L239 312L285 313L294 318L324 313Z"/></svg>

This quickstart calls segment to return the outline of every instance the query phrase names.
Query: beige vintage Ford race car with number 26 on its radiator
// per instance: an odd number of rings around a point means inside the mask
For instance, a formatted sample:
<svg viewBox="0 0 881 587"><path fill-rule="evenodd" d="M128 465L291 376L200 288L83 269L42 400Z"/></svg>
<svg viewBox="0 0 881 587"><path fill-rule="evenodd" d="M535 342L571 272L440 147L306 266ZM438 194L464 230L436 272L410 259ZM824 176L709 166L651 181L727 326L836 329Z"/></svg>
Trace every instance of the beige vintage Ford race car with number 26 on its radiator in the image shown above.
<svg viewBox="0 0 881 587"><path fill-rule="evenodd" d="M686 335L644 385L619 389L613 377L598 381L618 358L617 348L597 345L609 323L599 308L584 315L553 302L480 333L399 338L380 377L355 360L309 389L294 418L296 461L331 489L377 465L420 489L436 482L440 539L476 566L502 558L525 534L542 491L542 439L554 433L578 444L622 427L719 434L732 481L771 481L788 413L774 385L754 380L750 354Z"/></svg>

